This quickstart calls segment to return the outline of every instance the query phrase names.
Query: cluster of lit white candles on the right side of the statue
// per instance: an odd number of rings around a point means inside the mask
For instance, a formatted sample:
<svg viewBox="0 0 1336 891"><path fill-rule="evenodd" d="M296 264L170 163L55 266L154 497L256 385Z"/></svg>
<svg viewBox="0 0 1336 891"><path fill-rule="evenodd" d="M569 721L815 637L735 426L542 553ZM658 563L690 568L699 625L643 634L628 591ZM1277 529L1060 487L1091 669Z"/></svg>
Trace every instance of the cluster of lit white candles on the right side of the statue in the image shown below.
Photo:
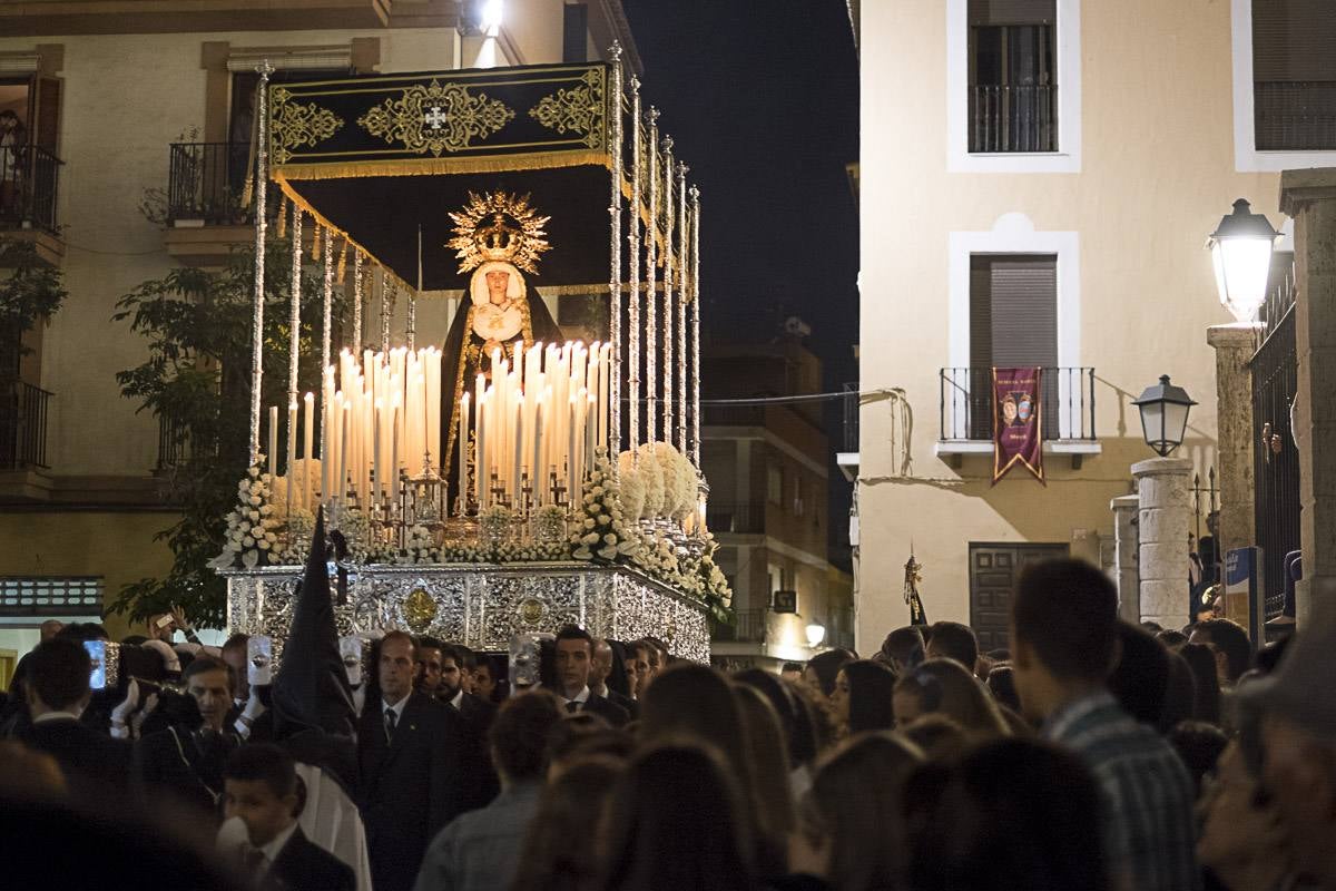
<svg viewBox="0 0 1336 891"><path fill-rule="evenodd" d="M466 446L473 443L473 500L490 506L553 504L553 474L561 498L582 497L584 476L608 435L608 375L612 347L578 342L512 345L489 357L490 381L478 374L460 401L458 478L468 480Z"/></svg>

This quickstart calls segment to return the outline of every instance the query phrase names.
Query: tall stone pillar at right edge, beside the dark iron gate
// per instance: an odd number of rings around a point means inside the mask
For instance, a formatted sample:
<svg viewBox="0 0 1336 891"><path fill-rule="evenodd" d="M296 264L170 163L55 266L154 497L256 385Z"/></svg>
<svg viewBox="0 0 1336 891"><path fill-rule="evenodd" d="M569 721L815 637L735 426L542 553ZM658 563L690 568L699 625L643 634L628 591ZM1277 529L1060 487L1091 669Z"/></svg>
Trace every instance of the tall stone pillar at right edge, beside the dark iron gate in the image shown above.
<svg viewBox="0 0 1336 891"><path fill-rule="evenodd" d="M1287 170L1280 176L1280 210L1295 220L1299 286L1295 439L1304 578L1295 590L1295 612L1303 628L1313 600L1336 588L1336 168Z"/></svg>

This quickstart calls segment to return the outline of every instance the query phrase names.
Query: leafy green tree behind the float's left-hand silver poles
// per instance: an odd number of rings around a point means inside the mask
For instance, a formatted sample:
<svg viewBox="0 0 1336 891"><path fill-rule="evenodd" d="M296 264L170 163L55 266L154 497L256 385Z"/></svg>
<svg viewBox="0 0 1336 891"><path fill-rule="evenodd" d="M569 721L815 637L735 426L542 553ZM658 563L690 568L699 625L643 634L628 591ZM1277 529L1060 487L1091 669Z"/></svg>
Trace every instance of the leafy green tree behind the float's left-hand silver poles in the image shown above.
<svg viewBox="0 0 1336 891"><path fill-rule="evenodd" d="M265 269L262 405L281 406L282 422L287 417L291 311L291 248L286 242L269 242ZM168 443L183 456L163 469L182 514L156 536L171 548L172 568L163 578L126 585L111 606L132 620L179 604L196 625L224 624L227 585L207 564L223 550L226 516L250 457L254 275L254 251L242 250L234 252L226 270L172 270L116 303L112 321L128 322L148 346L144 362L116 374L120 393L136 399L140 411L166 418ZM335 289L335 325L342 315L339 291ZM323 282L303 274L301 391L319 391L322 295ZM338 343L337 327L333 341ZM267 407L263 414L267 425ZM279 466L283 438L281 434Z"/></svg>

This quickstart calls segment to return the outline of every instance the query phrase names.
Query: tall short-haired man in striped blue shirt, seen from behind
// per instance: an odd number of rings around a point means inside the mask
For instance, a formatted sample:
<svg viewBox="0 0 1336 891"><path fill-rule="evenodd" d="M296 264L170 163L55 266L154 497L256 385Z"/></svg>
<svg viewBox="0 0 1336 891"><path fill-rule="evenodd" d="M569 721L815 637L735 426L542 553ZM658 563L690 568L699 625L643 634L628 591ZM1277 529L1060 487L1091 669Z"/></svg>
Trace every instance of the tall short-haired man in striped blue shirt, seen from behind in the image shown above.
<svg viewBox="0 0 1336 891"><path fill-rule="evenodd" d="M1168 741L1105 688L1117 661L1118 594L1098 569L1055 560L1026 569L1011 598L1011 653L1041 736L1074 752L1100 784L1113 887L1196 891L1193 787Z"/></svg>

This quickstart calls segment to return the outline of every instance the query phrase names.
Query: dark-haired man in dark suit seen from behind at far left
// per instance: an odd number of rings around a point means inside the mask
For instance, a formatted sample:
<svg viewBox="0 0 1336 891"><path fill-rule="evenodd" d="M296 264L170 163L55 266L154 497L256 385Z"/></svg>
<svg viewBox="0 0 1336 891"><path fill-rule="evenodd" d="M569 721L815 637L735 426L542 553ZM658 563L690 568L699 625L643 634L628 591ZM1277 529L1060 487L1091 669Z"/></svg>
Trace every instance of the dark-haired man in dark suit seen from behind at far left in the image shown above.
<svg viewBox="0 0 1336 891"><path fill-rule="evenodd" d="M79 720L88 705L92 660L79 641L52 637L29 653L24 685L32 727L23 741L56 759L76 797L120 793L130 773L128 741Z"/></svg>

